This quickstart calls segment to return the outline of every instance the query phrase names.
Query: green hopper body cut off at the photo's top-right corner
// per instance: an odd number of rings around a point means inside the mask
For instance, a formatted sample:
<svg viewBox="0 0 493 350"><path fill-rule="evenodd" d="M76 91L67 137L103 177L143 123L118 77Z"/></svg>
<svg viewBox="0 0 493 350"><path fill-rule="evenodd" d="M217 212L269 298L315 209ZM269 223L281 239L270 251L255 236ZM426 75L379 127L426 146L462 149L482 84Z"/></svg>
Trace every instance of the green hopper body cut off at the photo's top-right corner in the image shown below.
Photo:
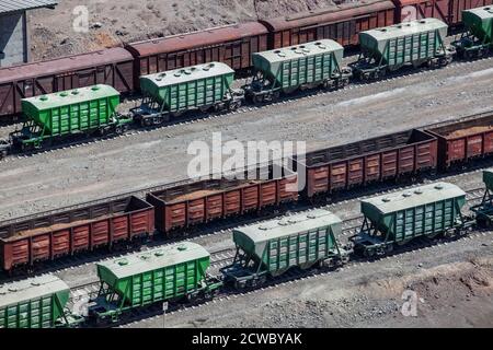
<svg viewBox="0 0 493 350"><path fill-rule="evenodd" d="M481 43L493 44L493 5L462 11L462 21Z"/></svg>

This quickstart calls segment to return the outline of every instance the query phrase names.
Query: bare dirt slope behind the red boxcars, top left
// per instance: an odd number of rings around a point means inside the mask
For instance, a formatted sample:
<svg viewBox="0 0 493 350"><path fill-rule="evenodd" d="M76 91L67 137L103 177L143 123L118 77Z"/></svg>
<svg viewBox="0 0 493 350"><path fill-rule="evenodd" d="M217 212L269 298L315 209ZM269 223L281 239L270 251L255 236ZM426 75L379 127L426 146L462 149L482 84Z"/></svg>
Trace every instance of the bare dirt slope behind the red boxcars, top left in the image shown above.
<svg viewBox="0 0 493 350"><path fill-rule="evenodd" d="M87 8L89 32L73 24ZM331 0L64 0L30 12L33 60L333 5Z"/></svg>

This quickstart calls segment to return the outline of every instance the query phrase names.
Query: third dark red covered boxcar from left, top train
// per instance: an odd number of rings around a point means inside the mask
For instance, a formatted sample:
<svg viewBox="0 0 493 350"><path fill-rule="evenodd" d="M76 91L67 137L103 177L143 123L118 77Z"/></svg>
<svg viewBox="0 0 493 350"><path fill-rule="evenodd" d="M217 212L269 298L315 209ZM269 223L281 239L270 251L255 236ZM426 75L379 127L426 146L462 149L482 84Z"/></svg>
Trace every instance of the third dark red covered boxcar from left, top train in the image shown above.
<svg viewBox="0 0 493 350"><path fill-rule="evenodd" d="M319 39L334 39L341 45L357 45L358 33L392 25L395 7L392 1L364 0L344 3L273 20L263 20L270 30L268 47L279 48Z"/></svg>

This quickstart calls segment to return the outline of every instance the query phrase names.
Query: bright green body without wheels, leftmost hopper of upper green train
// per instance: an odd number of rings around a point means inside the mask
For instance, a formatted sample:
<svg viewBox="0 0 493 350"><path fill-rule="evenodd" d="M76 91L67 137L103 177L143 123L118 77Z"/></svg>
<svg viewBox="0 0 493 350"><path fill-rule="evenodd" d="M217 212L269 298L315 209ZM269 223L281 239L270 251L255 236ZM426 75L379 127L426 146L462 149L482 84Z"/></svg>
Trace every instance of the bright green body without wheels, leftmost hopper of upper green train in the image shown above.
<svg viewBox="0 0 493 350"><path fill-rule="evenodd" d="M93 130L114 122L119 93L108 85L94 85L22 100L22 112L44 136Z"/></svg>

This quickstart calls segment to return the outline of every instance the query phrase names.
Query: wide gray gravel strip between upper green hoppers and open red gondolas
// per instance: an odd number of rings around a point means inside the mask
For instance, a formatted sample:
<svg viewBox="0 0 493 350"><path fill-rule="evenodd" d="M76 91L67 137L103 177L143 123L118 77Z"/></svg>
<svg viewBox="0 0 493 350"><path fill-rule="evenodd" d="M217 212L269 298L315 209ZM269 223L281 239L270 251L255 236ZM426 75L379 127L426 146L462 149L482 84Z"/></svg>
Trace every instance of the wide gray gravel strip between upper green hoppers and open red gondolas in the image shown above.
<svg viewBox="0 0 493 350"><path fill-rule="evenodd" d="M303 140L308 149L347 143L493 107L493 60L294 100L248 113L0 163L0 220L186 177L188 144Z"/></svg>

